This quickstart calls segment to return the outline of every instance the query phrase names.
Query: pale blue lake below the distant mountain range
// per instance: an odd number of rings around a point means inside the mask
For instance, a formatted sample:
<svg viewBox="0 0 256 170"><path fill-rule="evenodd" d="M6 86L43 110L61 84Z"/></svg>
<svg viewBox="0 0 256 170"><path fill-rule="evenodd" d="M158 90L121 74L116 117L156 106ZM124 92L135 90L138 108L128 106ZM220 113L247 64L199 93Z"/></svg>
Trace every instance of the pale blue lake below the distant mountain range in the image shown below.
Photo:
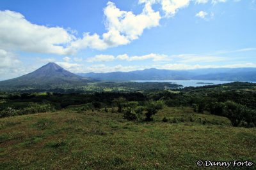
<svg viewBox="0 0 256 170"><path fill-rule="evenodd" d="M183 85L183 87L200 87L204 85L220 85L224 83L232 83L234 81L220 81L220 80L135 80L135 82L170 82L178 85ZM212 83L212 84L198 84L198 83Z"/></svg>

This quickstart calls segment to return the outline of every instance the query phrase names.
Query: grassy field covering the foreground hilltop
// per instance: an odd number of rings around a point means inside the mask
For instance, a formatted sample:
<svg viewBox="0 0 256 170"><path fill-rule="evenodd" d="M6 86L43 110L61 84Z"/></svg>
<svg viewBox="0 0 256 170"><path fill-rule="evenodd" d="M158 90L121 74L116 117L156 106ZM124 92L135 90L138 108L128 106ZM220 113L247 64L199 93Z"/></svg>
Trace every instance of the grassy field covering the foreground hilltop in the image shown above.
<svg viewBox="0 0 256 170"><path fill-rule="evenodd" d="M196 160L256 162L255 148L256 128L191 108L164 108L152 122L100 110L0 119L0 169L204 169Z"/></svg>

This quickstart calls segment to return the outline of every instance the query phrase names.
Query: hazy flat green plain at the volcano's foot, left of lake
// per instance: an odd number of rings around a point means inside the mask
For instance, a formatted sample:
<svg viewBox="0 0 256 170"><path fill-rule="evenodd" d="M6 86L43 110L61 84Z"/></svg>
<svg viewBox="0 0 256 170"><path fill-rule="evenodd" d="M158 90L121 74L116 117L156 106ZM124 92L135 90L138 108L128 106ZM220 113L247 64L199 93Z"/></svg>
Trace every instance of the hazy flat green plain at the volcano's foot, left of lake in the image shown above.
<svg viewBox="0 0 256 170"><path fill-rule="evenodd" d="M87 80L86 80L87 81ZM86 93L93 94L94 92L135 92L135 91L148 91L148 90L166 90L177 89L182 85L171 83L136 83L136 82L83 82L83 83L57 83L58 85L45 85L40 86L19 86L19 87L0 87L0 89L7 92L21 92L21 93L33 93L33 92L58 92L61 94L70 93Z"/></svg>

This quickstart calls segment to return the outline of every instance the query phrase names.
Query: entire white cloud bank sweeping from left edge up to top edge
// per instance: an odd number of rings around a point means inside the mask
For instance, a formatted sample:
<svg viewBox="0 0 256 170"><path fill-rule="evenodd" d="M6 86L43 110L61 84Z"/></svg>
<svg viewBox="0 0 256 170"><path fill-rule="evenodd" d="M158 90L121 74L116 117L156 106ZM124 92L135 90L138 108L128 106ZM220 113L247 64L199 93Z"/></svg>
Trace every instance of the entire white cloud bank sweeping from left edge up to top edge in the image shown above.
<svg viewBox="0 0 256 170"><path fill-rule="evenodd" d="M104 50L127 45L140 38L145 29L159 26L163 17L174 16L180 8L191 1L206 3L207 0L139 0L143 10L138 15L123 11L115 3L108 2L104 8L106 32L102 35L84 32L81 38L70 28L47 27L33 24L24 15L15 11L0 11L0 48L6 51L54 53L71 55L83 48ZM212 0L213 4L227 0ZM161 4L161 10L154 11L153 4ZM164 15L161 15L161 12ZM205 16L200 13L198 16Z"/></svg>

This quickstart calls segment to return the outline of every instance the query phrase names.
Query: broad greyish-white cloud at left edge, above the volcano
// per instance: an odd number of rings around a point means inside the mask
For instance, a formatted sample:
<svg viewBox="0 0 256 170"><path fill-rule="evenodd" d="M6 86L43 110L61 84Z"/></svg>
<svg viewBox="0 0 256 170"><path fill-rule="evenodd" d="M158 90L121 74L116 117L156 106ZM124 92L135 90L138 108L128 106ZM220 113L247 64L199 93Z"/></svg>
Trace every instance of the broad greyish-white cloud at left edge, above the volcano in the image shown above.
<svg viewBox="0 0 256 170"><path fill-rule="evenodd" d="M0 47L4 50L22 50L35 53L68 53L74 36L61 27L31 24L15 11L0 11Z"/></svg>

